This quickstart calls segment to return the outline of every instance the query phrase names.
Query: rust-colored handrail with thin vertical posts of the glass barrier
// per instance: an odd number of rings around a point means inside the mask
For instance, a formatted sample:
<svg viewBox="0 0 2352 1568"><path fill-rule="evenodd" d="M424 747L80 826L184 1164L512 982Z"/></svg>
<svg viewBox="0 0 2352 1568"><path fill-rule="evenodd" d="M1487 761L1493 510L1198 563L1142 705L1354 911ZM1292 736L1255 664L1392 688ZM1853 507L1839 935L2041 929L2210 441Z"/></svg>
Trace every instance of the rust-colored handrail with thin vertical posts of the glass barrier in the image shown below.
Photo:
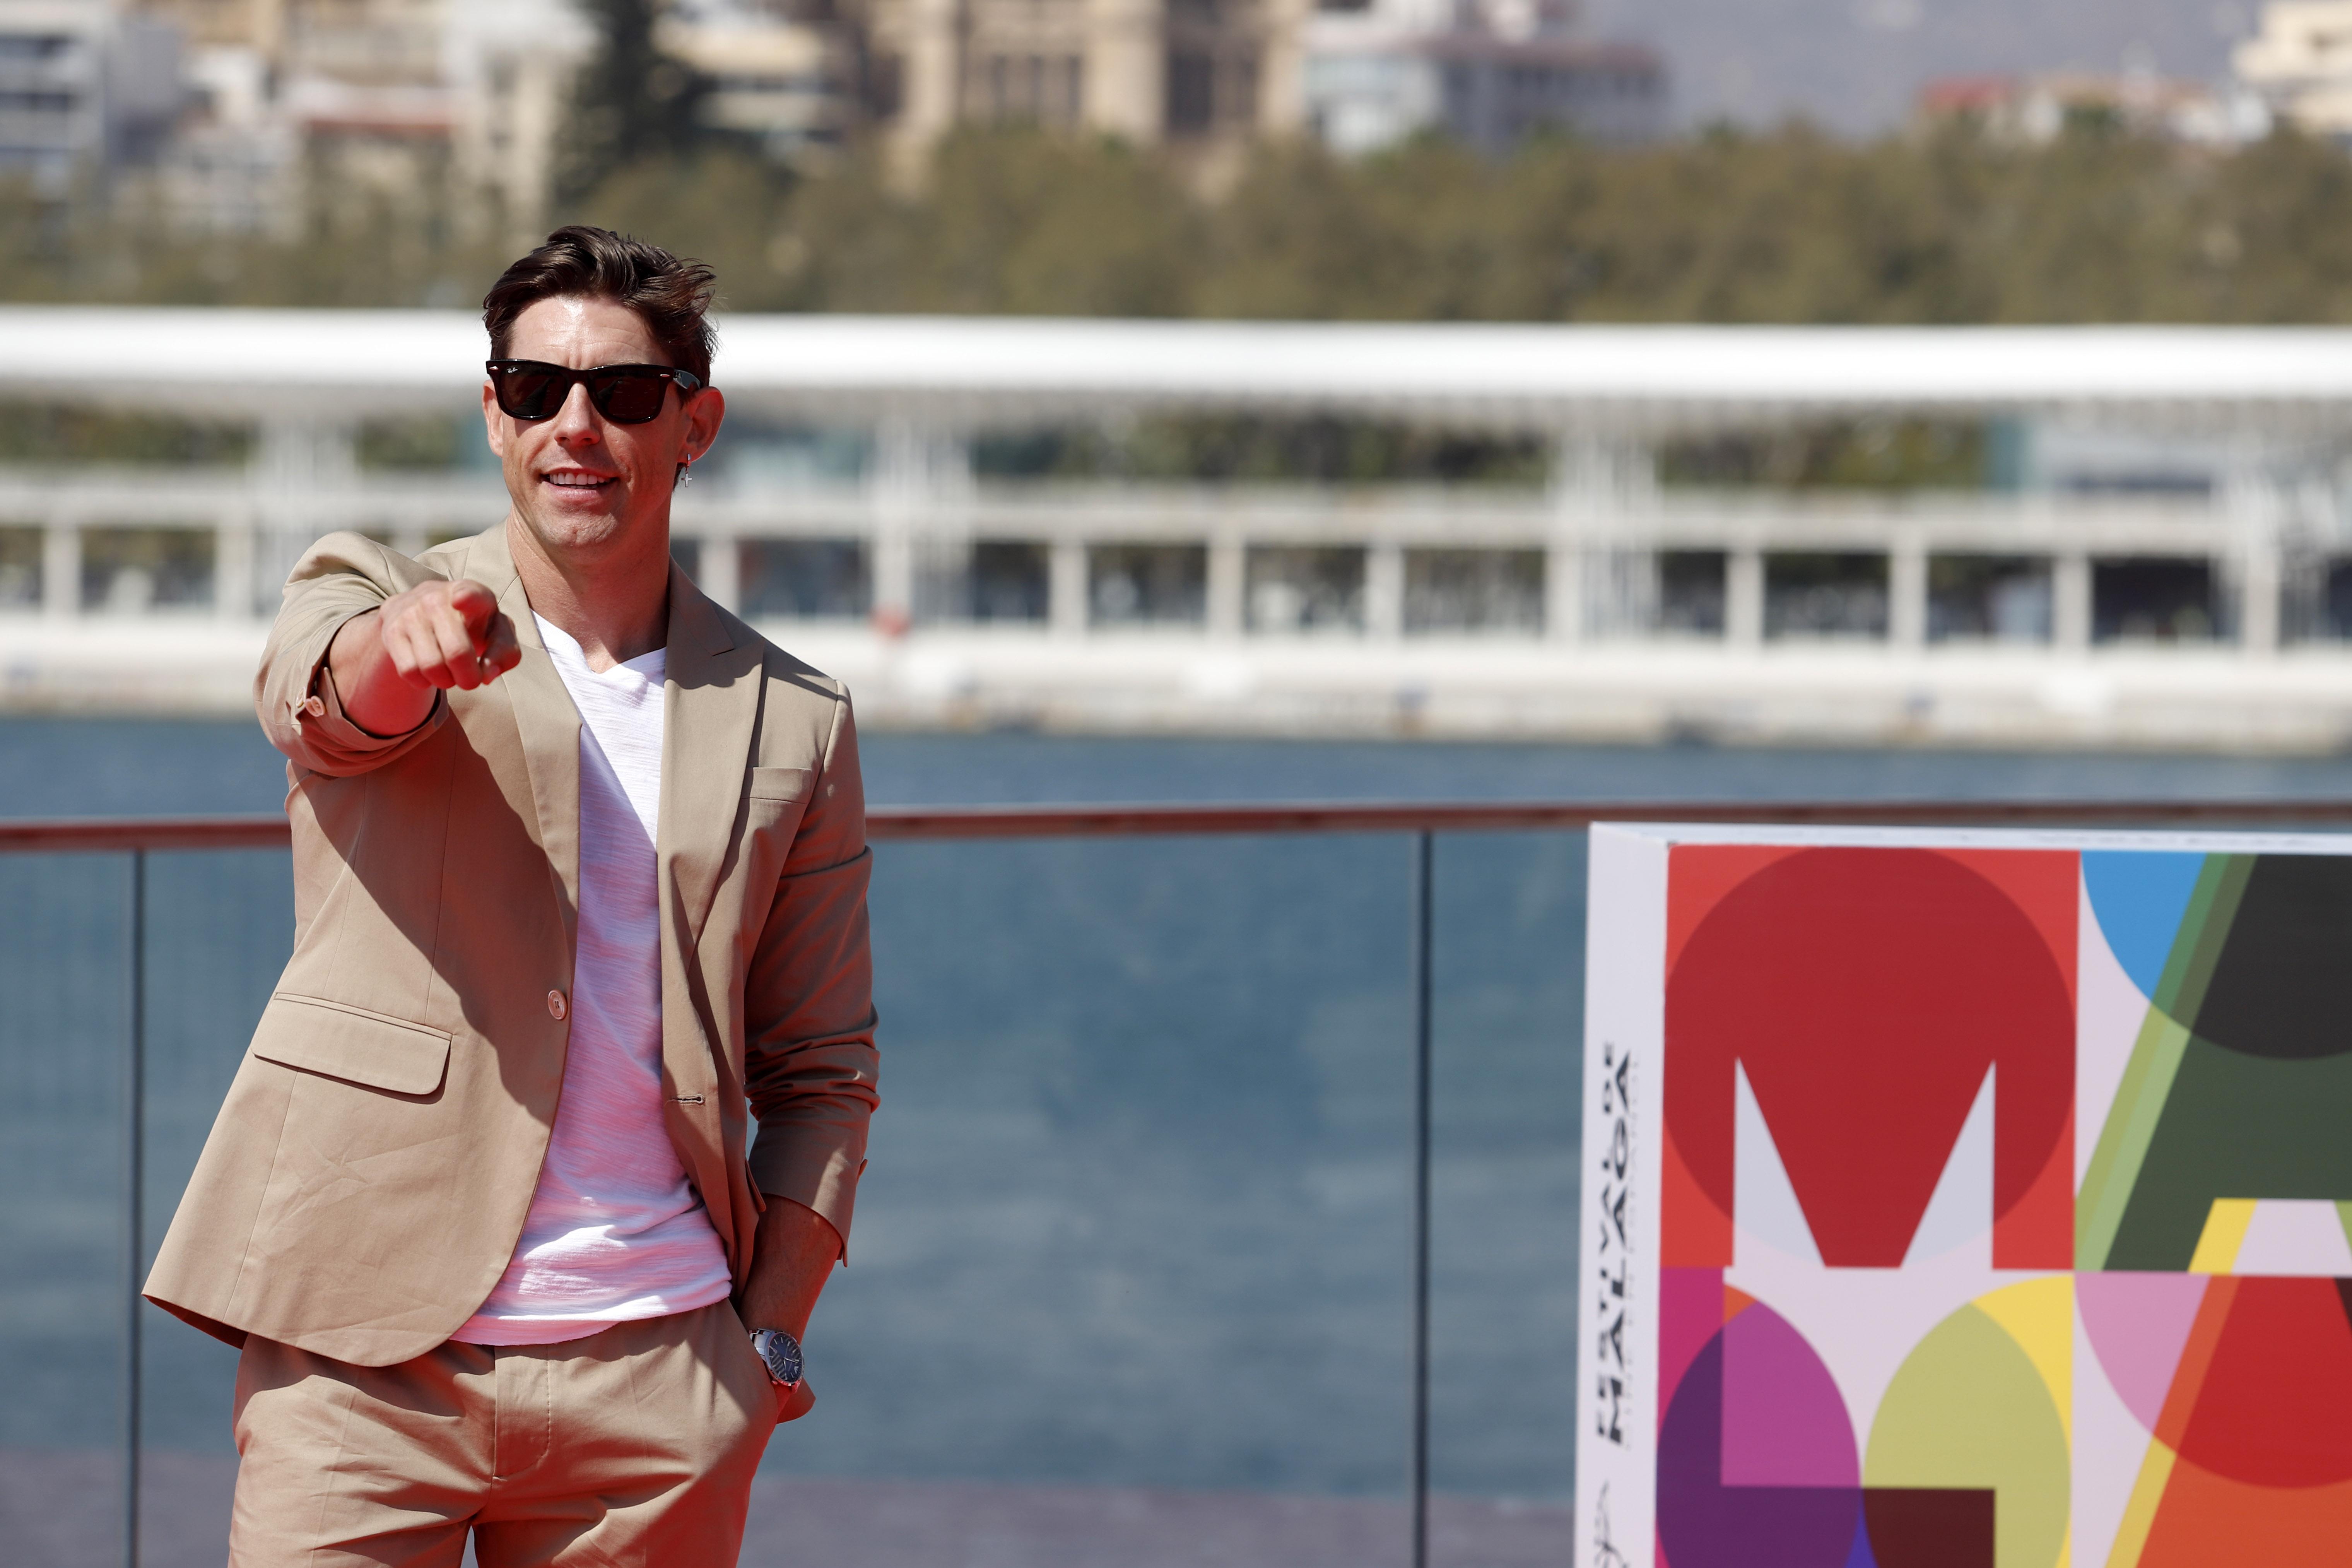
<svg viewBox="0 0 2352 1568"><path fill-rule="evenodd" d="M1411 1225L1411 1563L1430 1549L1430 1166L1432 1166L1432 914L1439 832L1583 830L1595 823L1783 823L1849 827L2352 827L2352 799L1870 799L1870 802L1301 802L1124 806L873 806L875 842L1411 835L1414 1225ZM139 1568L146 1274L146 879L151 851L287 849L282 816L75 818L0 823L0 853L127 856L125 1095L122 1095L122 1561Z"/></svg>

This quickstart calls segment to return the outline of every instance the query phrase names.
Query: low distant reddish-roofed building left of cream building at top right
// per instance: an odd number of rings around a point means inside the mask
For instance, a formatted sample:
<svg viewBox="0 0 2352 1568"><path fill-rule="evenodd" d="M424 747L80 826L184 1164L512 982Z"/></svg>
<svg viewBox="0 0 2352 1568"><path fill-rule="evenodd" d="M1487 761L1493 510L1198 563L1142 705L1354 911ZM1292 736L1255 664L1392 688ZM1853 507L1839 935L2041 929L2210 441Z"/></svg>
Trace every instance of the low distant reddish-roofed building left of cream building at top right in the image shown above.
<svg viewBox="0 0 2352 1568"><path fill-rule="evenodd" d="M2053 141L2084 120L2209 146L2258 141L2270 132L2270 110L2251 92L2145 71L1943 78L1919 92L1919 118L1971 120L1990 136L2032 143Z"/></svg>

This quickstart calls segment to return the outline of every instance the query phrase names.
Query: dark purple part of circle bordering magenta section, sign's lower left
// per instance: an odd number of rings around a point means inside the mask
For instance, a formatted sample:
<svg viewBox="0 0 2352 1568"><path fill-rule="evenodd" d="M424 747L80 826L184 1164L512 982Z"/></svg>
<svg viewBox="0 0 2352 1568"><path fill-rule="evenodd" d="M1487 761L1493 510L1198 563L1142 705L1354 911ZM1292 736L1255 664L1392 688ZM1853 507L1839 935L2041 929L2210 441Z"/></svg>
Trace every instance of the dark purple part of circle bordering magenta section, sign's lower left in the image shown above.
<svg viewBox="0 0 2352 1568"><path fill-rule="evenodd" d="M1752 1316L1750 1307L1740 1316ZM1856 1486L1724 1486L1724 1335L1682 1375L1658 1429L1658 1544L1675 1568L1846 1568Z"/></svg>

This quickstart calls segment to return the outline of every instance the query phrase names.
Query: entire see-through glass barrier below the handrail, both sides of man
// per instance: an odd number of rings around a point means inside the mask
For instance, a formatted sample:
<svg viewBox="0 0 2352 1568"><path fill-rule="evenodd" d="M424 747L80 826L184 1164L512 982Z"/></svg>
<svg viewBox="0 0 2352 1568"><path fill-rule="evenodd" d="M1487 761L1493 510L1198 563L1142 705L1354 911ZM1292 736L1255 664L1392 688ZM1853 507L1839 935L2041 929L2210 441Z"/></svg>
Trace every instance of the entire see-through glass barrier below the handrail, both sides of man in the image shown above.
<svg viewBox="0 0 2352 1568"><path fill-rule="evenodd" d="M1576 1119L1526 1100L1576 1084L1581 849L1529 844L1439 856L1437 1563L1564 1540ZM1411 1561L1411 849L882 846L884 1112L746 1561ZM122 1561L127 907L129 856L0 856L0 1507L61 1568ZM153 1258L287 952L285 853L151 851L146 910ZM233 1373L143 1309L148 1566L219 1556Z"/></svg>

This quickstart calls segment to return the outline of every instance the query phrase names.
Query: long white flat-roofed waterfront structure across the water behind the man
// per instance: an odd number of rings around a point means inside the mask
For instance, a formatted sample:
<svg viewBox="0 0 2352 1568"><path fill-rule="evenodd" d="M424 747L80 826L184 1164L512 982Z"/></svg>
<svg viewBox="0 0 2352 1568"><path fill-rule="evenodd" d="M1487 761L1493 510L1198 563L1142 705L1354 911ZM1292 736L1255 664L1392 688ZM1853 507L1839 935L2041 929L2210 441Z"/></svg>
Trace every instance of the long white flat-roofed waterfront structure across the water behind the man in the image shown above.
<svg viewBox="0 0 2352 1568"><path fill-rule="evenodd" d="M329 529L492 524L461 313L0 310L0 400L249 418L242 470L0 470L0 703L238 710ZM2352 334L731 317L677 503L720 602L870 719L1983 745L2352 743ZM1002 482L1181 414L1538 437L1543 487ZM2011 489L1663 484L1825 421L1990 421ZM734 451L729 454L729 444Z"/></svg>

